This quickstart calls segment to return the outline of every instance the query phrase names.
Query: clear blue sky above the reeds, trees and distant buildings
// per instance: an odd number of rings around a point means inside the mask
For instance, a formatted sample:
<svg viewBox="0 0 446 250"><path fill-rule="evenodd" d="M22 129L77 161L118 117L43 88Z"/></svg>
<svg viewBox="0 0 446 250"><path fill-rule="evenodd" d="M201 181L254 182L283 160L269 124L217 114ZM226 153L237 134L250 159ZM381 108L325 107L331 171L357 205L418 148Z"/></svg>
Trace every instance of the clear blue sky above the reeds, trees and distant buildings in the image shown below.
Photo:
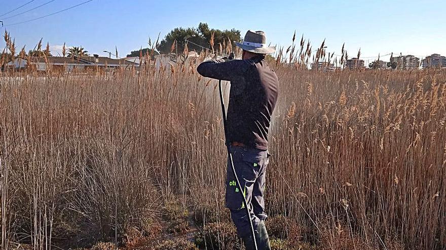
<svg viewBox="0 0 446 250"><path fill-rule="evenodd" d="M30 0L0 1L0 15ZM362 57L393 52L403 55L446 55L446 1L143 1L93 0L66 12L19 25L85 0L55 0L17 17L49 0L34 0L25 7L0 16L19 47L33 48L43 37L57 54L61 45L84 46L90 53L120 56L147 46L148 38L161 37L175 27L264 30L270 42L288 46L296 31L313 47L326 39L327 52L340 54L345 42L350 57L361 48ZM1 48L5 43L0 42ZM56 52L56 53L54 53ZM371 60L371 59L370 59Z"/></svg>

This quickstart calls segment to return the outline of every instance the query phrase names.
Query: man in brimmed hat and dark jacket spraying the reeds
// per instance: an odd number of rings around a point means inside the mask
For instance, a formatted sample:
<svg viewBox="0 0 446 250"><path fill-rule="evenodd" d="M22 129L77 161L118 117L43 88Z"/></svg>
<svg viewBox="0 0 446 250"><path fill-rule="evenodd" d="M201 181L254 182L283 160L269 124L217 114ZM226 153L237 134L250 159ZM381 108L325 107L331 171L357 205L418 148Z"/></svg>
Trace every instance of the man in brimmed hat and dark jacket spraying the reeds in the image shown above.
<svg viewBox="0 0 446 250"><path fill-rule="evenodd" d="M265 227L264 191L265 171L269 162L268 131L277 101L279 83L277 76L265 60L266 54L275 52L268 47L263 31L249 30L243 43L242 60L227 58L201 63L197 71L202 76L231 82L227 114L227 141L233 155L234 167L244 190L239 190L228 159L226 180L226 207L243 239L246 249L255 249L249 219L254 227L258 250L270 249ZM250 218L243 206L245 195Z"/></svg>

